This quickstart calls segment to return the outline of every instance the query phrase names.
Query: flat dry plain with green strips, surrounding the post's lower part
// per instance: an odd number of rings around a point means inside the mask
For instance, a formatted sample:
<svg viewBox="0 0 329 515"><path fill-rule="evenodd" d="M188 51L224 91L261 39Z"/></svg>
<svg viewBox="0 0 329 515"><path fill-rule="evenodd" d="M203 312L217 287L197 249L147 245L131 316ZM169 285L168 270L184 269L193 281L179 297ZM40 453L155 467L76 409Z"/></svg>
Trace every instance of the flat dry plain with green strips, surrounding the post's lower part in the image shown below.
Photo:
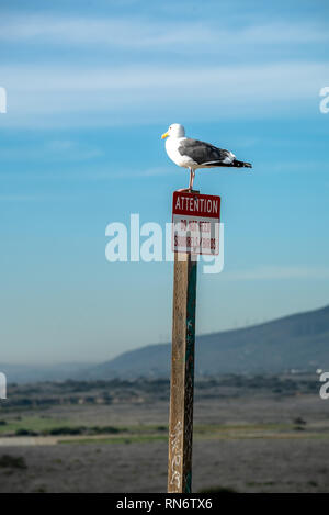
<svg viewBox="0 0 329 515"><path fill-rule="evenodd" d="M20 413L20 423L27 416L125 432L99 435L93 443L79 437L83 444L73 436L13 440L2 435L1 493L166 492L168 402L30 410ZM200 396L194 422L194 492L329 492L329 401L318 394ZM58 443L65 439L69 443ZM1 467L3 455L23 460L4 460Z"/></svg>

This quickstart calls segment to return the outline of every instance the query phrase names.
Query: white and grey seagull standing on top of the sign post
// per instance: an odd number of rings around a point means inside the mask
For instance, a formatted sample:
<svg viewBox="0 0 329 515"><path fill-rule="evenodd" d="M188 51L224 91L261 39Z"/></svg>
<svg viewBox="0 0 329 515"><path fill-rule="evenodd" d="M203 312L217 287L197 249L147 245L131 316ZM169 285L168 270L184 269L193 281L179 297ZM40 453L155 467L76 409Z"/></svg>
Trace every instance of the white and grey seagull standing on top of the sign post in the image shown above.
<svg viewBox="0 0 329 515"><path fill-rule="evenodd" d="M170 125L167 133L162 134L161 137L162 139L167 138L166 150L170 159L178 166L189 168L189 190L193 189L195 170L197 168L215 168L218 166L252 168L250 163L239 161L229 150L215 147L209 143L185 137L185 130L179 123Z"/></svg>

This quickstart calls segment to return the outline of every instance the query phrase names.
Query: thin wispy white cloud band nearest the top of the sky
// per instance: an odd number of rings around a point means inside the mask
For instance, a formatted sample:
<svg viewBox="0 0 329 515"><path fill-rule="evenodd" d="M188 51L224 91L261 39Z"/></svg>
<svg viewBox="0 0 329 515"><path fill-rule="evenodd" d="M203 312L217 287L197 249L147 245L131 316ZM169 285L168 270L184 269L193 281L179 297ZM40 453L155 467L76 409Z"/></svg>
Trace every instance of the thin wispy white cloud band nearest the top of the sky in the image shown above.
<svg viewBox="0 0 329 515"><path fill-rule="evenodd" d="M216 20L159 21L152 18L82 18L4 15L0 41L58 45L105 45L122 48L174 48L195 54L237 45L282 45L328 42L325 26L290 21L258 22L246 26L218 25ZM219 46L218 46L219 45Z"/></svg>

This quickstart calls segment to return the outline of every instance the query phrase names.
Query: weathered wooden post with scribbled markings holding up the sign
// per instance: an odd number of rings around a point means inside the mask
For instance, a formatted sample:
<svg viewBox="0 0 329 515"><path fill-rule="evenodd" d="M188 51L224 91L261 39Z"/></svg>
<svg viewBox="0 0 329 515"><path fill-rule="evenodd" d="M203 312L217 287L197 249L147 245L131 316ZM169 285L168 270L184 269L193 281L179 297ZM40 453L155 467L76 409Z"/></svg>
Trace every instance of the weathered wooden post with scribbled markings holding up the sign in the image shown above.
<svg viewBox="0 0 329 515"><path fill-rule="evenodd" d="M190 493L192 486L196 269L195 255L175 253L168 463L170 493Z"/></svg>

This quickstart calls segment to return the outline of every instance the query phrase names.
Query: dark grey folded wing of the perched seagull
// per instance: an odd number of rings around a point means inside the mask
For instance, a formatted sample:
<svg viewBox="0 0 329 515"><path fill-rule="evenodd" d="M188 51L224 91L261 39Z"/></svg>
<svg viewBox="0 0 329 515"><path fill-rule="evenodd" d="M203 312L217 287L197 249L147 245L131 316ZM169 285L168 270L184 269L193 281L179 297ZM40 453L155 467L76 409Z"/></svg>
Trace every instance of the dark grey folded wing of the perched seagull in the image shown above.
<svg viewBox="0 0 329 515"><path fill-rule="evenodd" d="M183 139L178 148L181 156L189 156L197 165L220 165L227 158L231 159L231 154L223 148L217 148L209 143L198 139ZM226 161L227 163L227 161Z"/></svg>

